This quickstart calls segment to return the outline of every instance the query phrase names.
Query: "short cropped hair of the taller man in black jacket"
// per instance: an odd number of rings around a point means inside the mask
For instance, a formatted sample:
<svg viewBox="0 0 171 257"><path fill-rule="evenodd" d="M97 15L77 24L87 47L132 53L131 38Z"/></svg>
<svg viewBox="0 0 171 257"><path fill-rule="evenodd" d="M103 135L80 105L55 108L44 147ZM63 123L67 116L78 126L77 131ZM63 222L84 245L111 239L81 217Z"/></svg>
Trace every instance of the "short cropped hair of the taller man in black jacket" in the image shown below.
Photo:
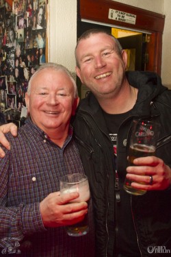
<svg viewBox="0 0 171 257"><path fill-rule="evenodd" d="M106 34L106 35L110 36L111 38L113 38L114 42L116 43L115 51L116 51L116 53L118 53L119 56L122 56L122 46L120 45L120 42L118 41L118 39L115 38L112 34L105 31L104 29L88 29L88 30L86 30L86 32L83 32L83 34L79 37L79 39L77 40L77 45L75 47L75 60L76 60L76 64L78 67L79 67L79 61L77 59L77 47L79 45L79 42L81 40L90 38L90 36L96 35L96 34Z"/></svg>

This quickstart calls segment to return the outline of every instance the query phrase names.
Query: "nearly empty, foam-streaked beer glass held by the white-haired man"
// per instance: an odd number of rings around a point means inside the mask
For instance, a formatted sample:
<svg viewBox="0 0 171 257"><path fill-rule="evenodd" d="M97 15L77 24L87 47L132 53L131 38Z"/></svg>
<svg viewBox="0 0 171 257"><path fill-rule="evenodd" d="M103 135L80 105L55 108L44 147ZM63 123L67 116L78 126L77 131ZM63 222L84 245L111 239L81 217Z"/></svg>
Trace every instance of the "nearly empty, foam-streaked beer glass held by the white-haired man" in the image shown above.
<svg viewBox="0 0 171 257"><path fill-rule="evenodd" d="M60 178L60 194L78 192L79 197L72 202L89 201L90 190L88 184L88 177L81 173L73 173L65 175ZM83 221L69 225L66 228L69 236L84 236L88 233L88 214L84 217Z"/></svg>

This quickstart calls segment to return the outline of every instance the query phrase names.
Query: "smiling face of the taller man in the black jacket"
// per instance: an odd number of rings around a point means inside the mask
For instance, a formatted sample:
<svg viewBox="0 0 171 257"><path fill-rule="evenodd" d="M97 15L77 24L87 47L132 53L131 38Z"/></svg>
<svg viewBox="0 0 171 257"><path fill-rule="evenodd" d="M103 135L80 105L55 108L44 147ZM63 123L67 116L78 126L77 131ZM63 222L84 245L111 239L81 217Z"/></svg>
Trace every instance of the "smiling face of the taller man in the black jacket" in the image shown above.
<svg viewBox="0 0 171 257"><path fill-rule="evenodd" d="M90 34L81 39L76 50L77 75L96 97L115 95L122 86L127 66L127 53L118 53L114 38L105 34Z"/></svg>

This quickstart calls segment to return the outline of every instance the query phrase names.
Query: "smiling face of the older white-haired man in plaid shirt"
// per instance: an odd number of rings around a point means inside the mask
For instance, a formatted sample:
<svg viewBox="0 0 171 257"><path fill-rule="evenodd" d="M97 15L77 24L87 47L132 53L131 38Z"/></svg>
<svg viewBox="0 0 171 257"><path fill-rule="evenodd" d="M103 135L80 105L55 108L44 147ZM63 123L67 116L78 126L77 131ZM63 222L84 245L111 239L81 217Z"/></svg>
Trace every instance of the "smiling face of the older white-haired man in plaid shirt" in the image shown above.
<svg viewBox="0 0 171 257"><path fill-rule="evenodd" d="M53 130L68 130L78 99L74 97L73 82L64 71L44 69L32 79L25 101L31 120L49 134Z"/></svg>

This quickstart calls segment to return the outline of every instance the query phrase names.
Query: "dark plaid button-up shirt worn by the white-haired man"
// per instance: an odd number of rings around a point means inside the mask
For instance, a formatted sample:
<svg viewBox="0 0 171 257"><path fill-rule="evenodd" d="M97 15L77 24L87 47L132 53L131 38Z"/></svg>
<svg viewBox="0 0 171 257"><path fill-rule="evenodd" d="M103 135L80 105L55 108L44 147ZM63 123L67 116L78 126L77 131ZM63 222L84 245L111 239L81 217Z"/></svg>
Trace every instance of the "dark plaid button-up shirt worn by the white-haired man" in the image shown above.
<svg viewBox="0 0 171 257"><path fill-rule="evenodd" d="M28 119L8 140L11 150L0 160L0 255L94 256L92 210L90 232L78 238L64 227L44 228L40 215L40 201L60 190L60 177L83 173L72 131L60 148Z"/></svg>

